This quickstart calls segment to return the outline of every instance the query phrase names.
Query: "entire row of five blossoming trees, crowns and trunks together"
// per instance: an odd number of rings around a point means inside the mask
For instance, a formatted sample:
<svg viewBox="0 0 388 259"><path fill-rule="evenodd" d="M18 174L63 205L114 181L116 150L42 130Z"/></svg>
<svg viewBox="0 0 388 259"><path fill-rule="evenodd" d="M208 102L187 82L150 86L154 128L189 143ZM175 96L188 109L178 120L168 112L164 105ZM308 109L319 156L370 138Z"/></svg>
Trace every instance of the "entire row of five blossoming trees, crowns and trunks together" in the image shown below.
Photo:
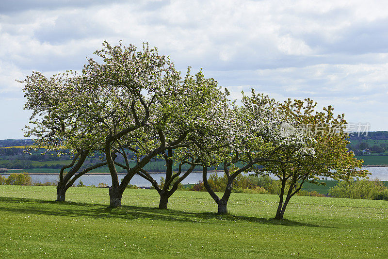
<svg viewBox="0 0 388 259"><path fill-rule="evenodd" d="M111 207L121 206L131 178L139 174L160 194L163 209L179 183L202 166L204 186L219 213L226 213L233 180L241 173L275 175L281 182L276 213L281 219L303 183L367 176L356 169L362 161L346 148L344 115L335 116L331 106L318 111L311 99L281 103L254 90L243 93L239 104L202 70L193 75L189 66L182 76L169 57L148 44L138 50L104 42L95 55L81 73L47 78L34 71L20 81L25 109L32 110L25 135L34 137L38 148L72 155L59 172L58 200L65 200L66 190L81 175L107 165ZM101 161L82 167L95 154L101 154ZM144 169L152 159L166 164L162 184ZM186 171L184 164L190 165ZM222 197L207 179L208 168L219 165L227 179ZM116 166L126 172L121 183Z"/></svg>

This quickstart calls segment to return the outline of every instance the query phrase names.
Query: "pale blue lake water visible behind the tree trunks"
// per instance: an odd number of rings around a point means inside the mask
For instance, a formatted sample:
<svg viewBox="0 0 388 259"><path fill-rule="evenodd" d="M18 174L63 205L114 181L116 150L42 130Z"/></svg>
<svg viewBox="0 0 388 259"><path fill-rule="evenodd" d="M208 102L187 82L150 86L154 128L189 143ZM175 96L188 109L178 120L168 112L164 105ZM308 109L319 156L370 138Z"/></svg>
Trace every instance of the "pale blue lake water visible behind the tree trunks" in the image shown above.
<svg viewBox="0 0 388 259"><path fill-rule="evenodd" d="M379 178L382 181L388 181L388 167L368 167L368 168L363 168L363 169L368 169L369 172L372 173L369 178L374 179L374 178ZM208 178L211 174L214 173L208 173ZM219 173L220 174L220 173ZM222 173L221 173L222 174ZM165 178L166 174L154 174L152 177L159 183L161 180L161 177ZM58 175L31 175L32 181L40 181L40 182L55 182L58 180ZM119 175L118 176L119 181L121 181L122 178L124 178L124 175ZM95 185L97 186L98 183L105 183L108 184L109 186L112 185L112 178L110 175L83 175L81 176L75 184L77 185L79 180L83 182L86 186L88 185ZM191 173L188 177L186 177L183 181L182 184L193 184L197 183L198 181L202 180L202 172L194 172ZM142 187L150 187L151 183L147 181L146 179L142 178L139 175L135 175L131 181L130 184L132 185L137 185L137 186L142 186Z"/></svg>

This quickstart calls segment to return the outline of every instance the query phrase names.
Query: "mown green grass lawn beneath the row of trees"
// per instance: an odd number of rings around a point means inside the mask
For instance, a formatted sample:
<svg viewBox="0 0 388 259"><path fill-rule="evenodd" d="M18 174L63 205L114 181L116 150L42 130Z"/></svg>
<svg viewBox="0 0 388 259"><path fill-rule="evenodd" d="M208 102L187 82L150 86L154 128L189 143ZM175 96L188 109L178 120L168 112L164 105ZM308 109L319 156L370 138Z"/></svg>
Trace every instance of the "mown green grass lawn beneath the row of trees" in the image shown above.
<svg viewBox="0 0 388 259"><path fill-rule="evenodd" d="M230 215L209 194L177 191L158 210L154 190L127 189L121 209L105 188L0 186L0 257L12 258L388 258L388 202L232 194Z"/></svg>

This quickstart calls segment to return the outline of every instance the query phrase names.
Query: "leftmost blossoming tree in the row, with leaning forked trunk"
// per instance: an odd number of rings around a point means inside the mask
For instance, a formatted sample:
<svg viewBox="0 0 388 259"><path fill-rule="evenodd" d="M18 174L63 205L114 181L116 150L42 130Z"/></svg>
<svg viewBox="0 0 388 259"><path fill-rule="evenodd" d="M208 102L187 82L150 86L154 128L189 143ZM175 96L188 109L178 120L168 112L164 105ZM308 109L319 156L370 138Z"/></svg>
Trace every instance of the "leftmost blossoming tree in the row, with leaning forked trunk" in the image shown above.
<svg viewBox="0 0 388 259"><path fill-rule="evenodd" d="M78 87L80 76L76 72L68 71L56 74L49 79L40 72L32 72L27 76L23 92L27 97L24 109L32 110L30 124L26 126L25 137L34 137L37 150L41 147L49 151L57 151L61 156L66 151L73 155L71 163L64 165L59 173L57 185L57 200L65 201L65 194L69 187L83 174L90 172L107 163L101 162L81 169L85 159L101 150L98 135L90 128L80 127L84 111L80 111L82 102ZM69 171L65 174L65 169ZM79 172L77 175L76 173Z"/></svg>

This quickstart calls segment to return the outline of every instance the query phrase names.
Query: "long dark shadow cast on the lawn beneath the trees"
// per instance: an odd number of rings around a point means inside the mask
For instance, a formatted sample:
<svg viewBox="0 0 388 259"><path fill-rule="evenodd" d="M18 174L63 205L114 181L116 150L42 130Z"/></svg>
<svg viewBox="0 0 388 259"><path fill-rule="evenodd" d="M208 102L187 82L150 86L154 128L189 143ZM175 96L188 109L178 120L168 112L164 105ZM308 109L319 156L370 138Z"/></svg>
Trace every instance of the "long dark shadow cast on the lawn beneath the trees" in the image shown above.
<svg viewBox="0 0 388 259"><path fill-rule="evenodd" d="M17 205L16 205L17 204ZM291 220L275 220L235 215L219 215L212 212L194 213L181 210L160 210L150 207L122 206L121 208L101 207L100 204L45 201L27 198L0 197L0 210L26 215L50 215L88 218L117 218L125 220L162 220L170 222L195 222L199 224L225 224L246 222L289 227L324 227ZM198 220L200 219L200 220Z"/></svg>

